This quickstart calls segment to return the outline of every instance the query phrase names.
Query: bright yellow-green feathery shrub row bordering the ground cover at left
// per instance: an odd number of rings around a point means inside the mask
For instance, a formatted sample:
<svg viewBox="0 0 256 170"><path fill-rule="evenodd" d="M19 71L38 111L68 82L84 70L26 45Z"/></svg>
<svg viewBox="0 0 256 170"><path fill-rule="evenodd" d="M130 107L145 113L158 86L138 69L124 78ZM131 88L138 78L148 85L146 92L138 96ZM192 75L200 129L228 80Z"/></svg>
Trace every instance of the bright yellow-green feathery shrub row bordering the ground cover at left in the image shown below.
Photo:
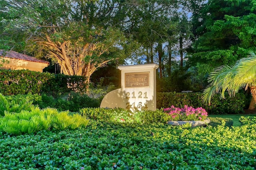
<svg viewBox="0 0 256 170"><path fill-rule="evenodd" d="M0 131L20 135L50 128L75 129L87 126L88 122L89 120L81 115L68 115L68 111L58 113L56 109L40 110L38 107L32 107L31 111L5 112L5 116L0 118Z"/></svg>

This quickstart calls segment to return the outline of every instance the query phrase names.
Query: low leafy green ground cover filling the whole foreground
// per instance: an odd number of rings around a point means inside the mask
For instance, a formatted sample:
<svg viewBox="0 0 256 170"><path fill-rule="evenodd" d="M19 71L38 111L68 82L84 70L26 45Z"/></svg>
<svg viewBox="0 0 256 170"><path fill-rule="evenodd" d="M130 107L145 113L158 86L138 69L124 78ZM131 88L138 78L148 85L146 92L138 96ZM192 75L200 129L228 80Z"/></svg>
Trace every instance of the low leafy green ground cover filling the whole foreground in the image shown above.
<svg viewBox="0 0 256 170"><path fill-rule="evenodd" d="M256 124L189 128L91 121L76 130L1 133L1 170L256 167Z"/></svg>

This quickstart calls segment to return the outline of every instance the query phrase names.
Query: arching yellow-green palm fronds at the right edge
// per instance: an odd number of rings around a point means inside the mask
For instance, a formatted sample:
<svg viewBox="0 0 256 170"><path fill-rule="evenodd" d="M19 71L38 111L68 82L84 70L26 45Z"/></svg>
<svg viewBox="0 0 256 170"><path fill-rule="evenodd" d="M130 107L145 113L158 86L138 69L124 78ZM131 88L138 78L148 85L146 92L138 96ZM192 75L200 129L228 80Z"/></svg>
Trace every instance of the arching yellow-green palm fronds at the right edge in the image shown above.
<svg viewBox="0 0 256 170"><path fill-rule="evenodd" d="M250 51L250 55L236 61L234 66L222 65L216 67L208 77L208 85L203 92L203 101L210 104L211 98L220 93L224 98L227 91L230 97L234 96L239 89L250 88L252 97L256 102L256 55Z"/></svg>

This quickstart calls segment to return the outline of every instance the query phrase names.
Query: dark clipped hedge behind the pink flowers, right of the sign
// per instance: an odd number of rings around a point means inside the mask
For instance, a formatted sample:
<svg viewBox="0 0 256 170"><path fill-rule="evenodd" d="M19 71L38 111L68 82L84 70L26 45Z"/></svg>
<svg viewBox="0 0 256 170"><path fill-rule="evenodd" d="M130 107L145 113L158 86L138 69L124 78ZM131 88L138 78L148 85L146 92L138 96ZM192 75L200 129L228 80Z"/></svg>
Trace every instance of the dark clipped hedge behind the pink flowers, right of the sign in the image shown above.
<svg viewBox="0 0 256 170"><path fill-rule="evenodd" d="M202 102L202 93L176 93L164 92L156 93L156 107L168 108L172 105L175 107L184 107L184 105L194 108L202 107L209 114L238 114L243 113L246 105L246 97L243 93L237 93L235 97L229 97L226 94L226 99L220 99L220 95L215 95L211 100L211 105L206 105Z"/></svg>

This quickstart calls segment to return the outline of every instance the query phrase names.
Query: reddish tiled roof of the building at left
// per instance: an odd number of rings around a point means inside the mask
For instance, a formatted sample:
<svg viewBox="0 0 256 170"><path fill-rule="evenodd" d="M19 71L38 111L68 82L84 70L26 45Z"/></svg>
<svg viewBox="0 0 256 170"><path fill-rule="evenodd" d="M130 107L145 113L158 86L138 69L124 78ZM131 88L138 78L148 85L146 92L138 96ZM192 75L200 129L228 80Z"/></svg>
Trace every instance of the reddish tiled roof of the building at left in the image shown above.
<svg viewBox="0 0 256 170"><path fill-rule="evenodd" d="M12 59L24 60L24 61L32 61L32 62L36 62L36 63L45 63L45 64L50 65L50 63L48 61L44 61L42 59L37 59L35 57L31 57L29 55L18 53L16 51L12 51L12 50L4 51L1 49L0 56L6 57L6 58L12 58Z"/></svg>

